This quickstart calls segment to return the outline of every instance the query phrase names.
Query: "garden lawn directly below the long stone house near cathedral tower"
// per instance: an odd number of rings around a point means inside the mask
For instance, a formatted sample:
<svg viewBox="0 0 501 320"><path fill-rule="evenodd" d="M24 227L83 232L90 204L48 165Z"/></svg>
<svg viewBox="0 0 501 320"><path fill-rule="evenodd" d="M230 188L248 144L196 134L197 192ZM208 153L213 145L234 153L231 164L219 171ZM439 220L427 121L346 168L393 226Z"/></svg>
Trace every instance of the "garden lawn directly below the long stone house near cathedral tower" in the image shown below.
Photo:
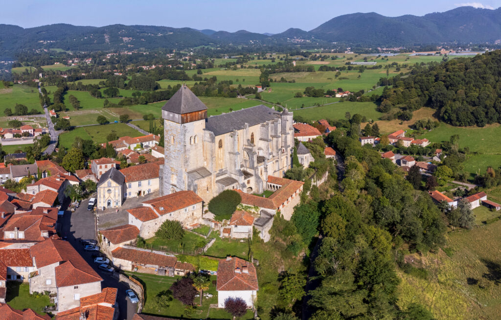
<svg viewBox="0 0 501 320"><path fill-rule="evenodd" d="M192 254L194 250L203 248L207 242L208 240L202 236L188 231L184 232L184 236L181 240L166 240L156 236L146 239L147 247L185 254Z"/></svg>

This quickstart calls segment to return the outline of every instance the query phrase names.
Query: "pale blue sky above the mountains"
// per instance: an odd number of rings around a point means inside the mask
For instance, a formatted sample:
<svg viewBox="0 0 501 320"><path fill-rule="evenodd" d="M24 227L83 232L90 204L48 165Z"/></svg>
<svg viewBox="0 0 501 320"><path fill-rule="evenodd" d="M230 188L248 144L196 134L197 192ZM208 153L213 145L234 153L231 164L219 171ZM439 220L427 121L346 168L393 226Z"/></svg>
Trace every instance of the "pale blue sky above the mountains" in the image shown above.
<svg viewBox="0 0 501 320"><path fill-rule="evenodd" d="M468 5L495 9L501 0L15 0L3 2L0 23L24 28L124 24L280 33L291 27L309 31L356 12L422 16Z"/></svg>

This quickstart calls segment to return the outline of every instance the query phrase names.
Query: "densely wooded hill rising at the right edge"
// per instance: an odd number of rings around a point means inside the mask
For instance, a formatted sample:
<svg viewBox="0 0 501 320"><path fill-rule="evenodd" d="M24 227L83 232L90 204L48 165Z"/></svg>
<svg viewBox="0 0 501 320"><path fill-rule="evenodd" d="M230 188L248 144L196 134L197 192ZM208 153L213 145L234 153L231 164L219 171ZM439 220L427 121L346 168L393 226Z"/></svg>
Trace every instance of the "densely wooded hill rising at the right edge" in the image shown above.
<svg viewBox="0 0 501 320"><path fill-rule="evenodd" d="M397 107L403 116L423 106L437 109L442 121L454 126L501 123L501 51L458 58L414 68L405 77L380 80L392 84L383 91L381 112Z"/></svg>

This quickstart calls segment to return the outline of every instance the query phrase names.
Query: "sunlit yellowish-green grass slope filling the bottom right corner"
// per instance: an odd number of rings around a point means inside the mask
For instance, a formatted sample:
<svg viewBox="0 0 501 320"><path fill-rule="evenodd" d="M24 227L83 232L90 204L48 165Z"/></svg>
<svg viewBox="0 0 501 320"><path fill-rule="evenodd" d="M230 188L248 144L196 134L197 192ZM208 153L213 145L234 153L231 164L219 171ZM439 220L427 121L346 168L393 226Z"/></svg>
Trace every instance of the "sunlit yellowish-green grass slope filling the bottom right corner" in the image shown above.
<svg viewBox="0 0 501 320"><path fill-rule="evenodd" d="M426 279L400 273L398 304L418 302L438 319L494 319L501 314L501 221L448 233L450 257L427 253ZM478 281L484 288L478 285Z"/></svg>

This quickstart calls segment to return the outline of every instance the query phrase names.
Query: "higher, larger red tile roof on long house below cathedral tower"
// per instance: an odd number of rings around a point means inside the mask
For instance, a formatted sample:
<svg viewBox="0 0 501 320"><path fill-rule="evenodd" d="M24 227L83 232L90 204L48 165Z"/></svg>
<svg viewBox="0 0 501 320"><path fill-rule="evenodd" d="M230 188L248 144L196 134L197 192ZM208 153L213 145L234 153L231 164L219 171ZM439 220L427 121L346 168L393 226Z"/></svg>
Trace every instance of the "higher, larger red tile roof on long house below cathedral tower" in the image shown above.
<svg viewBox="0 0 501 320"><path fill-rule="evenodd" d="M193 191L178 191L159 198L144 201L143 204L152 206L156 212L160 215L164 215L166 213L195 205L202 201L202 198L200 198Z"/></svg>

